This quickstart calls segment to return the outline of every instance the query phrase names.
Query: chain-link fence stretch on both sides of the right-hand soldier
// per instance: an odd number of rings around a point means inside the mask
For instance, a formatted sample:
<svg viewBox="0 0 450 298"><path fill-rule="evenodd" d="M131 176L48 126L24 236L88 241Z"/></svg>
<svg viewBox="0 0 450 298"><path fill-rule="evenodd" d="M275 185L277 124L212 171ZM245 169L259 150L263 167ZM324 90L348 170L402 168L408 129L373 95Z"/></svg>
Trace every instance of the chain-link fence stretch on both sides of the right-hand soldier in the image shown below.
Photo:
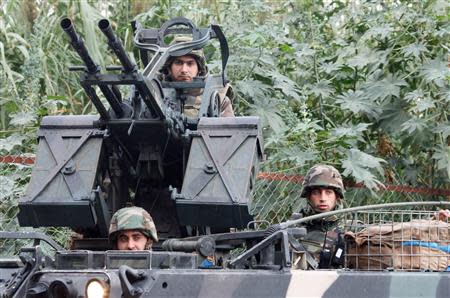
<svg viewBox="0 0 450 298"><path fill-rule="evenodd" d="M298 212L307 204L304 198L300 198L302 182L303 176L294 172L259 173L250 210L255 220L262 222L260 227L288 220L293 212ZM361 184L346 183L344 207L449 199L448 185L442 185L442 188L384 185L375 191Z"/></svg>

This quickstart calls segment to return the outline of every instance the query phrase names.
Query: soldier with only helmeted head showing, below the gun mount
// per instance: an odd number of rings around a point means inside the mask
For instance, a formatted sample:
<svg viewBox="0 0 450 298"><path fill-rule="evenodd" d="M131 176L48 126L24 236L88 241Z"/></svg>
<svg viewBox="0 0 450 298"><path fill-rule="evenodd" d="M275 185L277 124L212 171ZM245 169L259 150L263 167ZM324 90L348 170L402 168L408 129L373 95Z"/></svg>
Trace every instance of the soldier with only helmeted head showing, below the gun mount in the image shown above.
<svg viewBox="0 0 450 298"><path fill-rule="evenodd" d="M114 213L109 226L109 241L118 250L151 250L158 241L150 214L140 207L126 207Z"/></svg>

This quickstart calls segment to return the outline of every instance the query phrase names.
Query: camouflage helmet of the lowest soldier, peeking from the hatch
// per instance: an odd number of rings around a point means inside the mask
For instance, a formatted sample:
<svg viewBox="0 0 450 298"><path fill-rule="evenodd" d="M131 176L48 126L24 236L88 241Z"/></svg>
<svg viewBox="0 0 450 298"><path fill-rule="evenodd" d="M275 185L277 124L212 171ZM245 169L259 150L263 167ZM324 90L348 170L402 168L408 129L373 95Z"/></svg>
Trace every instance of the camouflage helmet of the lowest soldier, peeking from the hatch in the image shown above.
<svg viewBox="0 0 450 298"><path fill-rule="evenodd" d="M118 232L125 230L139 230L148 238L158 241L155 223L143 208L126 207L114 213L109 225L109 240L115 243Z"/></svg>

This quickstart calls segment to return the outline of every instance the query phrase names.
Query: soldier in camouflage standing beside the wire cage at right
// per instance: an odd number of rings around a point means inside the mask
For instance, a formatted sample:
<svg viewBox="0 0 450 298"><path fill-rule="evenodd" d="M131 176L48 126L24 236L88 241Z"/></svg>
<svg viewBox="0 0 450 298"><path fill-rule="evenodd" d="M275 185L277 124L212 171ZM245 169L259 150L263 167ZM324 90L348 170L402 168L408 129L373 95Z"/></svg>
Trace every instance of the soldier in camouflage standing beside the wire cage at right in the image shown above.
<svg viewBox="0 0 450 298"><path fill-rule="evenodd" d="M341 174L329 165L315 165L305 176L301 197L308 200L307 206L300 210L301 217L342 209L344 184ZM339 258L343 251L340 237L343 220L339 216L329 216L303 224L308 234L302 243L319 263L319 268L336 266L336 254ZM342 249L342 248L341 248ZM315 267L313 266L313 267Z"/></svg>

